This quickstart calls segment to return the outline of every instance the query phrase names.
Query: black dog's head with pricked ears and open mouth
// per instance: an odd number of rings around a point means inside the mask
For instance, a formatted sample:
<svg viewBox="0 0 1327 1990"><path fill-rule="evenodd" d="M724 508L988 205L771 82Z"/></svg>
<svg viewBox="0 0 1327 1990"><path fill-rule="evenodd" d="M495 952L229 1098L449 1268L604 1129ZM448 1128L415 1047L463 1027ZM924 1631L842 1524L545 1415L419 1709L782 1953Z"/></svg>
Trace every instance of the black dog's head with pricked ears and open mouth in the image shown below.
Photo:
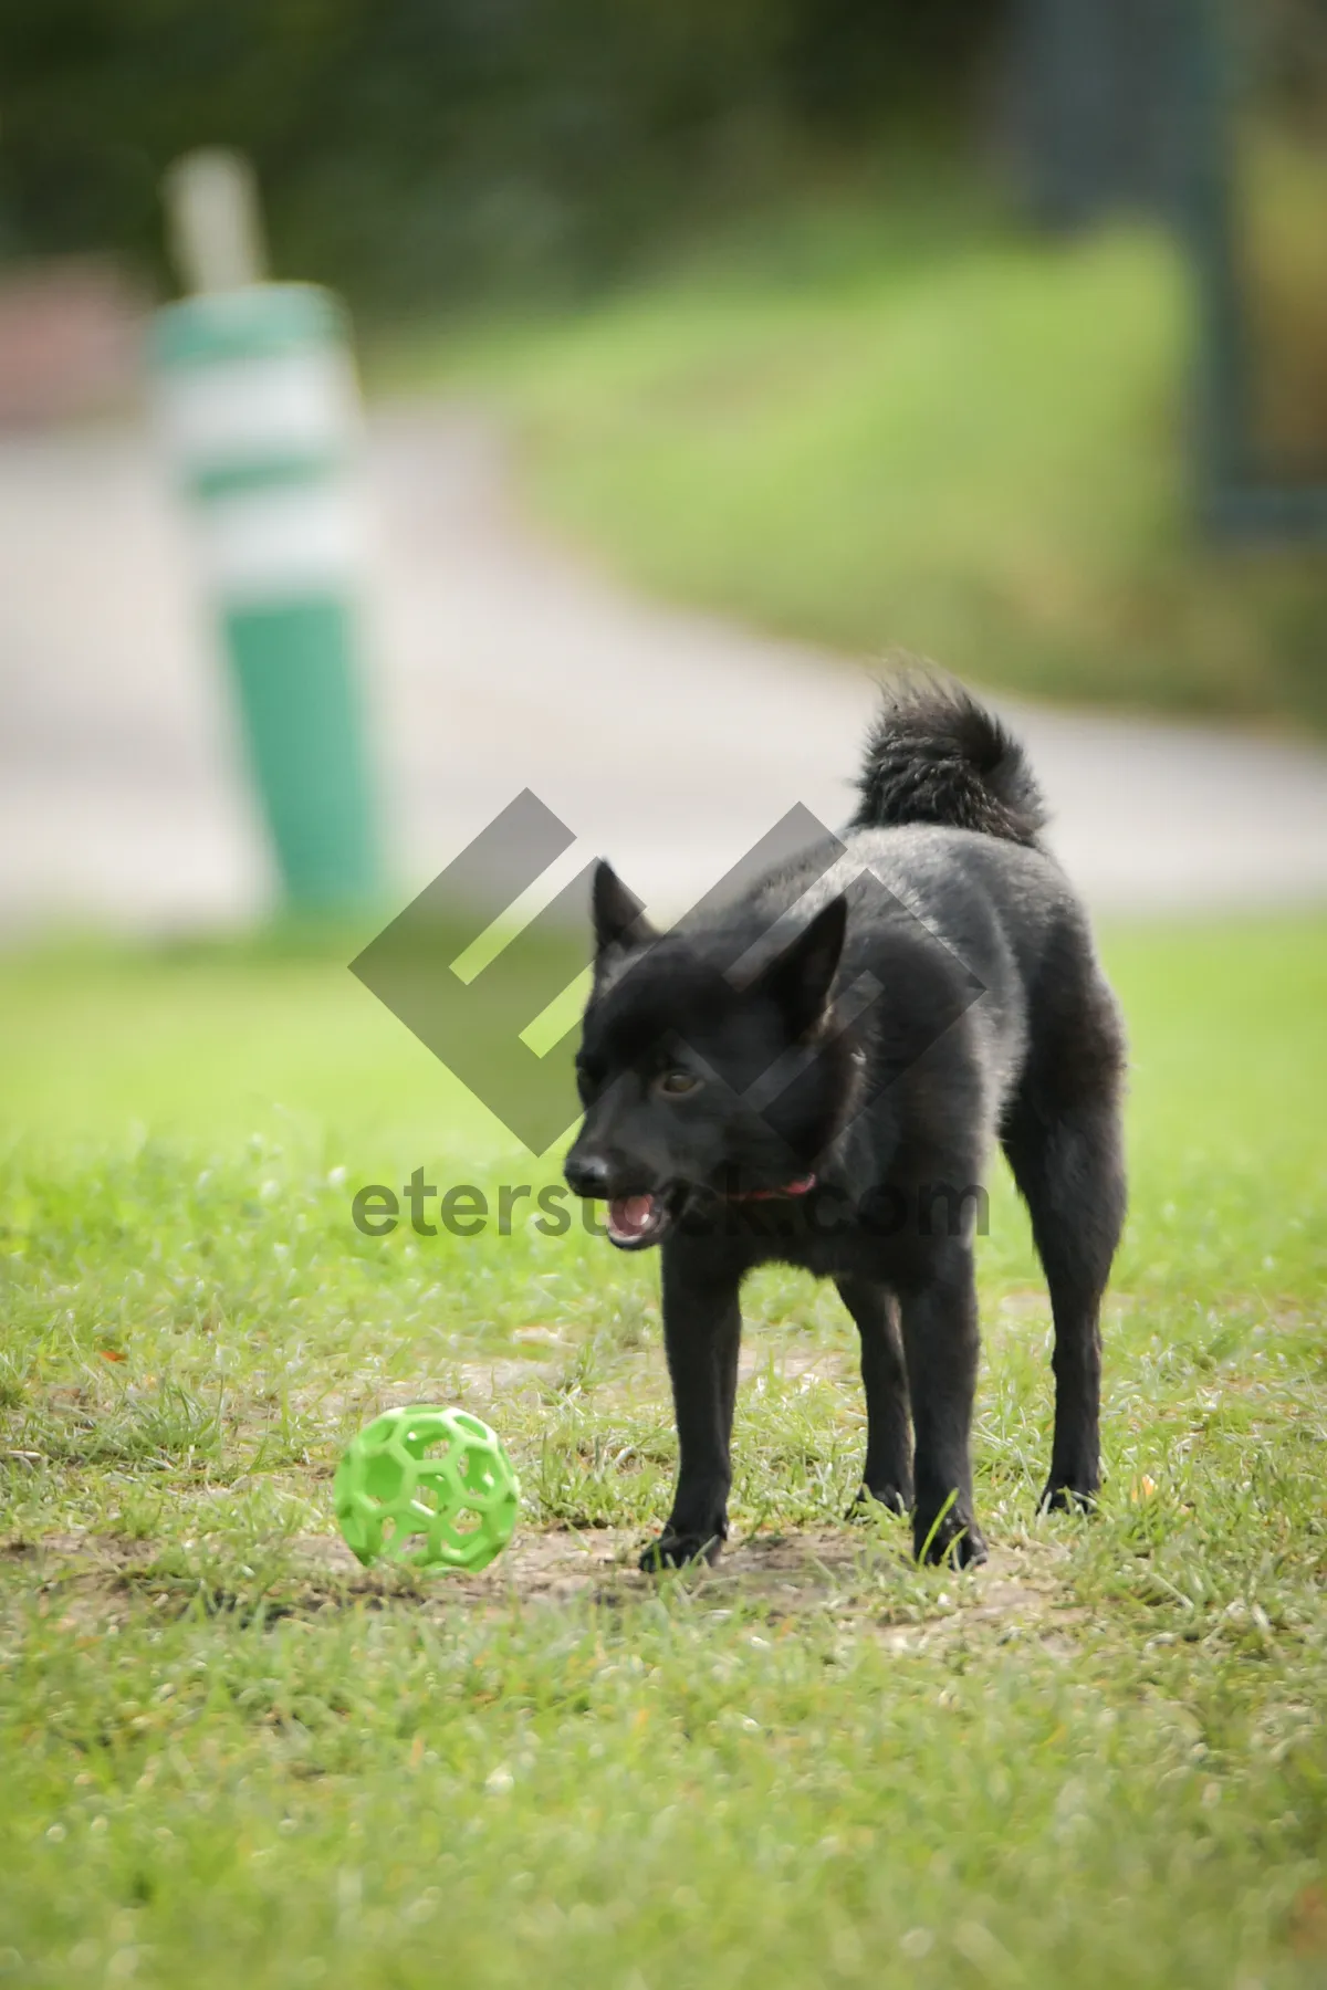
<svg viewBox="0 0 1327 1990"><path fill-rule="evenodd" d="M732 935L659 935L609 864L593 901L585 1124L565 1172L609 1204L621 1250L645 1250L688 1206L804 1182L834 1138L855 1069L830 1005L848 905L830 899L742 977Z"/></svg>

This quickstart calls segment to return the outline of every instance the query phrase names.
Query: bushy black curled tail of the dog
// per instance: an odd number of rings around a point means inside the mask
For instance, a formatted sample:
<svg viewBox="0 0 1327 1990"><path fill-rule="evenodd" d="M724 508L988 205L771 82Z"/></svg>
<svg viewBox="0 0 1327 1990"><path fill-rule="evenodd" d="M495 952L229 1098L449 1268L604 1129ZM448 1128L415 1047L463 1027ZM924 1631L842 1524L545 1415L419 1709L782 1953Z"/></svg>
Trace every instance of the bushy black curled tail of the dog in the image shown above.
<svg viewBox="0 0 1327 1990"><path fill-rule="evenodd" d="M857 792L855 830L933 822L1035 844L1046 822L1013 734L961 685L937 677L885 687Z"/></svg>

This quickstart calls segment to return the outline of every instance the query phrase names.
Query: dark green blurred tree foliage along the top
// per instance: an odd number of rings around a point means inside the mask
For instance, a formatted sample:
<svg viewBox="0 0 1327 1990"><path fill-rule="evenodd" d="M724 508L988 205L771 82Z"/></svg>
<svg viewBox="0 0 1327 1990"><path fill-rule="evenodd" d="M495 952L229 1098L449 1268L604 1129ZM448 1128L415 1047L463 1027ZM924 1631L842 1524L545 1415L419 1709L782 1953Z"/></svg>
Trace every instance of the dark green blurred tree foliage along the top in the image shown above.
<svg viewBox="0 0 1327 1990"><path fill-rule="evenodd" d="M953 119L993 0L4 0L0 255L161 269L163 167L259 167L273 261L384 304L587 285Z"/></svg>

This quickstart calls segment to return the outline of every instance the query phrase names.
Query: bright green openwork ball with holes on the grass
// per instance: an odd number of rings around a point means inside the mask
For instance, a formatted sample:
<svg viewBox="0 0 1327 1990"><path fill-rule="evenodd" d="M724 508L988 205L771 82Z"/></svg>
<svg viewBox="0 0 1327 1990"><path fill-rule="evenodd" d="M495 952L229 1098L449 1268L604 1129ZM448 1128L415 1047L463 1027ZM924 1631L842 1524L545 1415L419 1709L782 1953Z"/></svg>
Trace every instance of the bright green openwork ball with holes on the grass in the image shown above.
<svg viewBox="0 0 1327 1990"><path fill-rule="evenodd" d="M362 1562L487 1568L511 1540L521 1487L487 1423L468 1409L388 1409L350 1441L332 1487Z"/></svg>

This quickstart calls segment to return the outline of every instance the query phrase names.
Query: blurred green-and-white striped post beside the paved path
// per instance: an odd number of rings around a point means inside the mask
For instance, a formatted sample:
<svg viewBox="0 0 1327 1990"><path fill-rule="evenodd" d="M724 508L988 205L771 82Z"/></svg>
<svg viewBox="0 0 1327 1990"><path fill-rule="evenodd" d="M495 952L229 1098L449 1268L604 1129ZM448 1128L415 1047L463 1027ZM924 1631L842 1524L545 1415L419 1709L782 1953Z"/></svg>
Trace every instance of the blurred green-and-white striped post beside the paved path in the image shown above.
<svg viewBox="0 0 1327 1990"><path fill-rule="evenodd" d="M157 312L167 448L239 691L286 901L330 911L378 886L360 685L360 408L344 306L263 283L253 173L233 153L165 181L195 291Z"/></svg>

